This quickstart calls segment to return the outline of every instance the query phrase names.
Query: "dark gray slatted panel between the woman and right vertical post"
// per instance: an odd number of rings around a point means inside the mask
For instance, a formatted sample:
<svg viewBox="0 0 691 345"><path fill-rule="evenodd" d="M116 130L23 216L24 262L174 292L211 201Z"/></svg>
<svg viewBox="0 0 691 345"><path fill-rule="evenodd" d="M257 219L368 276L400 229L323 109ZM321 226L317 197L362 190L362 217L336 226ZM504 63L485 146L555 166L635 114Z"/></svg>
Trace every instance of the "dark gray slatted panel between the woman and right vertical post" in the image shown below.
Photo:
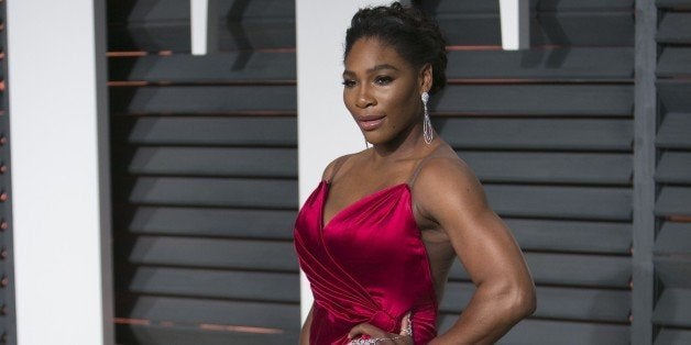
<svg viewBox="0 0 691 345"><path fill-rule="evenodd" d="M502 343L630 342L633 1L533 1L531 48L504 52L494 1L424 1L451 52L435 125L485 186L537 283ZM474 288L460 265L442 329Z"/></svg>

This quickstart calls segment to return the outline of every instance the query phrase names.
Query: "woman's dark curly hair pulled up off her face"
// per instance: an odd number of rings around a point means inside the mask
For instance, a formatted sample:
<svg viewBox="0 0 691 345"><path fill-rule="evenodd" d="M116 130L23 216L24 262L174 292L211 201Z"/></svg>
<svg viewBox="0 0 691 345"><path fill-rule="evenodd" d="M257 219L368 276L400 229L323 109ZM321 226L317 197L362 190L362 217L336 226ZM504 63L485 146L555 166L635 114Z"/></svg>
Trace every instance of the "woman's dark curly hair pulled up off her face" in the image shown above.
<svg viewBox="0 0 691 345"><path fill-rule="evenodd" d="M346 53L360 38L379 38L391 45L406 62L416 68L430 64L432 86L429 93L447 85L446 40L437 22L415 7L394 2L388 7L360 9L346 32Z"/></svg>

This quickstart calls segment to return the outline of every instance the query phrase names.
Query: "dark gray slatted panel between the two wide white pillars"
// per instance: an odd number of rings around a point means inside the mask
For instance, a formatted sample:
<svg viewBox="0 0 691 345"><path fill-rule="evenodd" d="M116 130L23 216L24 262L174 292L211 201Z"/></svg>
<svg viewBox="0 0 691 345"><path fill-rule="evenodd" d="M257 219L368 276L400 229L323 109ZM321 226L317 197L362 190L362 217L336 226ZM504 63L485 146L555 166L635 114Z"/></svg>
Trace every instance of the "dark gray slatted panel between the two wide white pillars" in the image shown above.
<svg viewBox="0 0 691 345"><path fill-rule="evenodd" d="M220 1L200 57L188 13L109 1L118 342L296 343L294 4Z"/></svg>

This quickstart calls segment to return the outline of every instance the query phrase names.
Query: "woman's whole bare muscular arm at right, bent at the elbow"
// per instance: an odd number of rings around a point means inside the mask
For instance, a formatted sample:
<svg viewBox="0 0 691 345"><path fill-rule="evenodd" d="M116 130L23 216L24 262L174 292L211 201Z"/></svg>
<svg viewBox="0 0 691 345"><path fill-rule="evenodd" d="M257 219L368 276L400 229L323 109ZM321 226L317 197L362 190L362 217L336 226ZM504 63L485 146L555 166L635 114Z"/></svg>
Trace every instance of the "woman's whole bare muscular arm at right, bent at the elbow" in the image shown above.
<svg viewBox="0 0 691 345"><path fill-rule="evenodd" d="M496 342L536 308L535 286L520 248L462 162L429 160L414 194L419 214L446 233L476 287L456 324L430 344Z"/></svg>

